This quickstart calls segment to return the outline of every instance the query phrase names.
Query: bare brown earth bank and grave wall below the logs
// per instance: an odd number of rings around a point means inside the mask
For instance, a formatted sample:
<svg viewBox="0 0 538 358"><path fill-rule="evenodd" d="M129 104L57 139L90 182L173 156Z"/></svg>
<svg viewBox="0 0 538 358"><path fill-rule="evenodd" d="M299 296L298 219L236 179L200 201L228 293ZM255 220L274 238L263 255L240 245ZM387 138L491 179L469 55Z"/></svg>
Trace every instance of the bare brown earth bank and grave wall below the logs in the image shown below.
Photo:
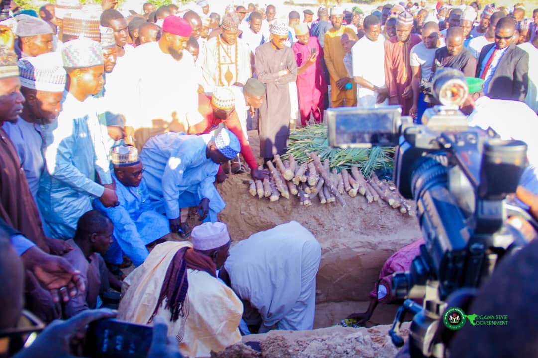
<svg viewBox="0 0 538 358"><path fill-rule="evenodd" d="M254 156L258 156L256 132L249 132L249 142ZM296 196L271 202L249 194L245 183L249 179L247 174L229 175L218 185L226 203L219 219L228 224L232 245L291 220L315 235L322 248L315 328L335 325L351 312L365 311L368 293L385 260L422 237L416 217L401 214L384 202L369 204L363 196L351 198L345 194L344 207L320 204L317 198L312 206L302 206ZM379 305L367 326L391 323L396 309L395 305Z"/></svg>

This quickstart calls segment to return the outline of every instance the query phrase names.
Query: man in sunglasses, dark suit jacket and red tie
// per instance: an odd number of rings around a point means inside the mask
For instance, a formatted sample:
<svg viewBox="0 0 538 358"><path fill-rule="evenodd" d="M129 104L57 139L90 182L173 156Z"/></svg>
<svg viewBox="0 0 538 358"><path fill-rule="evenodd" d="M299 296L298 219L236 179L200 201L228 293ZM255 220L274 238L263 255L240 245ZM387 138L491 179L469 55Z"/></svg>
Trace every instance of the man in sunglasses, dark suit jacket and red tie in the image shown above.
<svg viewBox="0 0 538 358"><path fill-rule="evenodd" d="M485 80L484 94L496 99L525 101L528 88L528 54L513 42L514 19L504 17L495 26L495 39L478 58L476 77Z"/></svg>

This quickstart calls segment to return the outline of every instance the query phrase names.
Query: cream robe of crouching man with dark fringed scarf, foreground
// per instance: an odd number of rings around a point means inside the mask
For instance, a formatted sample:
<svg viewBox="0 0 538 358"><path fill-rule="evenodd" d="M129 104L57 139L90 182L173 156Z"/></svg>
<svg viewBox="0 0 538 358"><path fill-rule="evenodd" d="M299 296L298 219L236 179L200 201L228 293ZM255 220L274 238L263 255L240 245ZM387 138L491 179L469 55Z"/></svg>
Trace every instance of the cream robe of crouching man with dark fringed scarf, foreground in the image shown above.
<svg viewBox="0 0 538 358"><path fill-rule="evenodd" d="M157 245L144 264L123 281L123 298L118 318L132 323L148 324L174 255L190 242L165 242ZM238 330L243 304L233 291L217 278L203 271L187 269L189 288L185 298L187 317L170 320L166 299L157 312L168 325L168 335L182 336L179 344L185 356L209 356L241 339Z"/></svg>

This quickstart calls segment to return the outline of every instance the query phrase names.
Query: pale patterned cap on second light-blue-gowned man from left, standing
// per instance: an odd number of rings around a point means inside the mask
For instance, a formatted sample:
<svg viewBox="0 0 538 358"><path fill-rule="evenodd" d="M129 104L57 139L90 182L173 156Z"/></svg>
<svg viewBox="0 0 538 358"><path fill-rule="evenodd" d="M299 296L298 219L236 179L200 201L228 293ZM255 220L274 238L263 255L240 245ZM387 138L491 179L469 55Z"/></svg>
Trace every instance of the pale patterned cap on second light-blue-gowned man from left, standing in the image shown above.
<svg viewBox="0 0 538 358"><path fill-rule="evenodd" d="M79 68L103 65L103 48L87 38L68 41L62 48L63 67Z"/></svg>

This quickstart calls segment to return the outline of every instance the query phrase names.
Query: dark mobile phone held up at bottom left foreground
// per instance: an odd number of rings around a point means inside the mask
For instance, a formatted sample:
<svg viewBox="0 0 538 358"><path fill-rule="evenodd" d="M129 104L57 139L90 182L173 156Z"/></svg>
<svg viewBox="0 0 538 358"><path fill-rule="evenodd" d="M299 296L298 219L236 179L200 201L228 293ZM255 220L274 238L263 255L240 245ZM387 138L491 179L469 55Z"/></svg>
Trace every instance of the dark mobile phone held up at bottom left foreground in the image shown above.
<svg viewBox="0 0 538 358"><path fill-rule="evenodd" d="M146 358L153 327L105 318L88 325L84 356L90 358Z"/></svg>

